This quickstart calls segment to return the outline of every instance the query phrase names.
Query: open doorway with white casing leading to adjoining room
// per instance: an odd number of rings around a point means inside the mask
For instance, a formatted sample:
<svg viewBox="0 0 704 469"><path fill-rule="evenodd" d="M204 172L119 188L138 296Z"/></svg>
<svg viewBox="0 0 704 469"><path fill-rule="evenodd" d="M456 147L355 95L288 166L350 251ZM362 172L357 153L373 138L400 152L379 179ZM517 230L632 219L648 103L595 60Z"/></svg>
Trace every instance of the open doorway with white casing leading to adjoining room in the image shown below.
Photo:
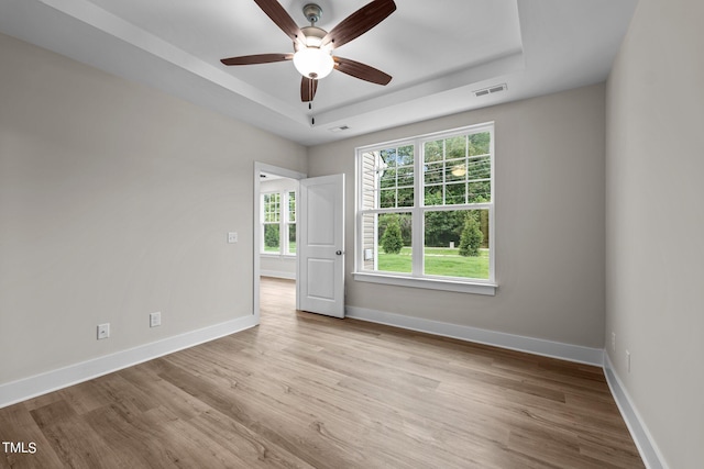
<svg viewBox="0 0 704 469"><path fill-rule="evenodd" d="M305 177L260 163L254 167L254 314L257 322L262 304L270 304L272 295L278 297L277 303L285 303L282 308L298 306L297 202L299 180ZM276 294L277 287L287 293Z"/></svg>

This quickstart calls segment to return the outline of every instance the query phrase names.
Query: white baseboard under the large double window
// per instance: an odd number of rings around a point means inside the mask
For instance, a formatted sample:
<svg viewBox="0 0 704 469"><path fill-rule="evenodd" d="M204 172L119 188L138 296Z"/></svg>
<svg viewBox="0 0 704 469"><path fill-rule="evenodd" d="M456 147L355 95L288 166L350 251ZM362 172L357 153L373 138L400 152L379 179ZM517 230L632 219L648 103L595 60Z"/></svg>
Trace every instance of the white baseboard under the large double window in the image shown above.
<svg viewBox="0 0 704 469"><path fill-rule="evenodd" d="M346 306L346 316L372 323L386 324L410 331L425 332L443 337L493 345L510 350L526 351L544 357L559 358L568 361L602 367L604 350L602 348L582 347L541 338L525 337L496 331L448 324L439 321L410 317L402 314L367 310L364 308Z"/></svg>

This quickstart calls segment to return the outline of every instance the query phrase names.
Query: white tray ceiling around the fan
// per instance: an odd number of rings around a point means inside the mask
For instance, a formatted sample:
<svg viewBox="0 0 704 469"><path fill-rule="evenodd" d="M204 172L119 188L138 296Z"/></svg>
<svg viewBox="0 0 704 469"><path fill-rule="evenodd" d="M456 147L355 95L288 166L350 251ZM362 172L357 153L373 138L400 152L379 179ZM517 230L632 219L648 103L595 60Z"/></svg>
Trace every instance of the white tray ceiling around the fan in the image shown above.
<svg viewBox="0 0 704 469"><path fill-rule="evenodd" d="M307 25L302 5L279 0ZM318 0L330 30L369 0ZM333 71L314 109L290 53L252 0L1 0L0 32L315 145L606 79L637 0L396 0L397 10L334 55L392 75L386 87ZM506 83L476 98L473 91ZM315 125L311 124L315 118ZM331 129L349 130L332 132Z"/></svg>

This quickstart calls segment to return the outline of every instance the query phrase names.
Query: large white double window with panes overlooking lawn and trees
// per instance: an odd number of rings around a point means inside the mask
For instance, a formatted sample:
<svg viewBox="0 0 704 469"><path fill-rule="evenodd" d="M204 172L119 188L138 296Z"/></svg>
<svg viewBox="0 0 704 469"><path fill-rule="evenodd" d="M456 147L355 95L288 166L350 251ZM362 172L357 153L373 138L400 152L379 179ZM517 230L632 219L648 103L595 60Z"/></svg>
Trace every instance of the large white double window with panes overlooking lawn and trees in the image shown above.
<svg viewBox="0 0 704 469"><path fill-rule="evenodd" d="M494 293L494 125L358 148L355 279Z"/></svg>

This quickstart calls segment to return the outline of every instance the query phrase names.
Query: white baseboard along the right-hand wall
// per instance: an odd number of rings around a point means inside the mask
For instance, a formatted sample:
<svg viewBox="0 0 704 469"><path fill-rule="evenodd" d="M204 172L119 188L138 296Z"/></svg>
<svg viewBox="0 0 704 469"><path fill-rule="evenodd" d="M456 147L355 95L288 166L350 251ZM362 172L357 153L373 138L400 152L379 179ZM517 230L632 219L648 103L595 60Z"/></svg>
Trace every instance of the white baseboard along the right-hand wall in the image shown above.
<svg viewBox="0 0 704 469"><path fill-rule="evenodd" d="M658 449L648 427L632 405L632 400L628 395L618 375L616 375L612 360L606 353L604 354L604 375L606 376L606 382L616 401L616 405L618 405L618 410L626 422L626 426L628 426L630 436L632 436L646 467L648 469L667 469L668 465L664 462L662 453Z"/></svg>

